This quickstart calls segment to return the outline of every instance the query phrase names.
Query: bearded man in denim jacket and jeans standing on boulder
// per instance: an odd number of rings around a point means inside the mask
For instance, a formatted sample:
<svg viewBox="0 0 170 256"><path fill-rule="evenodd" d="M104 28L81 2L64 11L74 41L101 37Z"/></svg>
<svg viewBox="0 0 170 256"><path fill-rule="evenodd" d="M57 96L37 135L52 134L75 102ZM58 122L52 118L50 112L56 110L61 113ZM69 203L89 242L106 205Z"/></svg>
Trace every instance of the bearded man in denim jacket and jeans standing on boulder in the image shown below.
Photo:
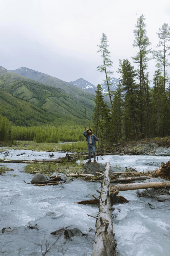
<svg viewBox="0 0 170 256"><path fill-rule="evenodd" d="M88 154L89 154L89 160L87 162L91 162L91 148L93 151L93 157L94 157L94 162L96 162L96 150L95 150L95 141L99 141L100 139L97 138L94 134L92 134L91 129L87 129L86 131L83 132L83 135L86 137L87 140L87 149L88 149Z"/></svg>

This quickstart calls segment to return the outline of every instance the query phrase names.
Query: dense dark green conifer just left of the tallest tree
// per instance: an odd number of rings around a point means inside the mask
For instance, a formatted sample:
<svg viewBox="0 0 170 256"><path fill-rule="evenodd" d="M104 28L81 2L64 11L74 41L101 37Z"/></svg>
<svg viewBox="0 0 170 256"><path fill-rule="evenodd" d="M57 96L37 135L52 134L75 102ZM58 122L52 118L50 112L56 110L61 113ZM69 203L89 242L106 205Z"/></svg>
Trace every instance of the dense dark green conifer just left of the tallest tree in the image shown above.
<svg viewBox="0 0 170 256"><path fill-rule="evenodd" d="M136 71L130 64L129 60L120 60L119 73L121 74L120 81L122 84L122 90L125 91L124 104L126 109L131 113L133 124L135 128L136 140L139 140L137 126L136 126L136 109L137 109L137 92L138 85L135 83Z"/></svg>

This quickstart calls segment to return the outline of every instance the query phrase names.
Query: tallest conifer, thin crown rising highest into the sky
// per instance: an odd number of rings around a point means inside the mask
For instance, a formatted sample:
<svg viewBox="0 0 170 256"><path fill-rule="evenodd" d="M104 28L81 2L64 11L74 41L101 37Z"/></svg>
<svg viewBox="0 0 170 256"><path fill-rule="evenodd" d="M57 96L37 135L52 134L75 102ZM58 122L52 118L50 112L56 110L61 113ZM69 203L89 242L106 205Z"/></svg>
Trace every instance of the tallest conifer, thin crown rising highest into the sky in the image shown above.
<svg viewBox="0 0 170 256"><path fill-rule="evenodd" d="M137 25L135 25L134 35L135 40L133 43L134 47L138 47L139 51L135 54L132 59L134 62L139 63L139 80L140 80L140 90L144 90L145 94L145 102L146 109L148 114L148 123L149 123L149 135L150 139L152 138L151 133L151 124L150 124L150 114L149 114L149 104L147 101L147 90L146 90L146 81L145 81L145 69L147 68L147 62L150 60L148 54L151 53L151 49L148 49L148 46L151 44L149 42L149 38L146 34L146 18L142 14L139 18L137 18Z"/></svg>

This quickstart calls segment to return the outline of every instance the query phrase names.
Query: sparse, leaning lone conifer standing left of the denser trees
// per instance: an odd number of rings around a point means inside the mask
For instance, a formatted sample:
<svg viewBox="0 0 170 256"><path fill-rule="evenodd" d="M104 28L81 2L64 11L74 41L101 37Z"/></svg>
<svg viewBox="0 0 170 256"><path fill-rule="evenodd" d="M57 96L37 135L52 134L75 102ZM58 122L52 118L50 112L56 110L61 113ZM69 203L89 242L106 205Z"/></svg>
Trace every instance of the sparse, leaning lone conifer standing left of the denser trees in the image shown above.
<svg viewBox="0 0 170 256"><path fill-rule="evenodd" d="M109 57L110 57L110 52L108 51L109 44L108 44L107 37L106 37L105 33L102 33L102 37L100 39L100 45L97 45L97 46L100 49L97 51L97 53L101 52L102 58L103 58L103 64L97 67L97 71L100 71L101 73L104 72L106 75L106 79L104 81L107 85L111 106L113 106L110 89L109 89L109 86L112 85L111 83L109 83L110 75L113 74L113 72L114 72L114 71L109 70L109 68L112 67L113 61L109 59Z"/></svg>

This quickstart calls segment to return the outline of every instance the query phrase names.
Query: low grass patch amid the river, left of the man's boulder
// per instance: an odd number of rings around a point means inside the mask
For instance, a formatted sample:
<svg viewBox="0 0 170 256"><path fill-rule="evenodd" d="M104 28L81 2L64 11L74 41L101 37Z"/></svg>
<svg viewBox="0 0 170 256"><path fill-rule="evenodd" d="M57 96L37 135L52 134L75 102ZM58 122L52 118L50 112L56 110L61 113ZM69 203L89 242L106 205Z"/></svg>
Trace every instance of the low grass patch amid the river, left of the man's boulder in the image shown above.
<svg viewBox="0 0 170 256"><path fill-rule="evenodd" d="M66 173L68 170L70 172L76 173L78 171L81 171L83 167L83 164L77 164L74 162L68 162L65 161L64 163L54 163L54 162L49 162L49 163L31 163L25 166L24 171L26 173L31 173L35 174L36 172L38 173L43 173L45 175L49 175L52 172L62 172Z"/></svg>

